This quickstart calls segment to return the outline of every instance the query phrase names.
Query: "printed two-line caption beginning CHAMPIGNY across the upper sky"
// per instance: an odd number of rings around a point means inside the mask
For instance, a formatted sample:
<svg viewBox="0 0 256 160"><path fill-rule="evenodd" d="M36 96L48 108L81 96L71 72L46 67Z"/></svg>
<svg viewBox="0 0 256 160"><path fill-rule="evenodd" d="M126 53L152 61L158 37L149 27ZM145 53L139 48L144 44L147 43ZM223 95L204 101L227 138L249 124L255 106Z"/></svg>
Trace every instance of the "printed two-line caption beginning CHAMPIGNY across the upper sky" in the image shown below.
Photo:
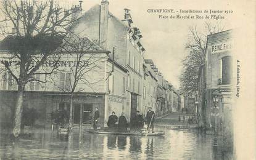
<svg viewBox="0 0 256 160"><path fill-rule="evenodd" d="M147 9L148 14L157 16L159 19L201 19L221 20L234 13L233 10L197 10L197 9Z"/></svg>

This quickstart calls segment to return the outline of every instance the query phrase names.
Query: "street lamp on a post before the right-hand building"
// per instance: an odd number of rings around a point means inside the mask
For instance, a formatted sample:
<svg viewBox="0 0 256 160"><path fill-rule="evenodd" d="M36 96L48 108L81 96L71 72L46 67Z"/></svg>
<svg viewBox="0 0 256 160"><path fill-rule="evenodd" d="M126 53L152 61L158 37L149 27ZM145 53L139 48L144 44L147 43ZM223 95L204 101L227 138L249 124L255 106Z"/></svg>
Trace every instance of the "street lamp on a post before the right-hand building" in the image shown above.
<svg viewBox="0 0 256 160"><path fill-rule="evenodd" d="M218 146L217 143L217 118L216 118L216 108L218 105L218 100L220 98L220 92L218 90L214 90L212 93L212 101L214 104L214 137L213 137L213 146Z"/></svg>

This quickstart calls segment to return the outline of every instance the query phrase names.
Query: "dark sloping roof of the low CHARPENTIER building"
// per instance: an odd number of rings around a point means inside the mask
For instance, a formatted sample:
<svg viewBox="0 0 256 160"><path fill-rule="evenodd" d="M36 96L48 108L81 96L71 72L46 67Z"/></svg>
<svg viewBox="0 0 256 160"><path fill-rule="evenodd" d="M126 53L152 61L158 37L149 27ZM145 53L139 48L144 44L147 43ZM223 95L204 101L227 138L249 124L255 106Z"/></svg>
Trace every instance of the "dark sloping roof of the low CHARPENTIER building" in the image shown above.
<svg viewBox="0 0 256 160"><path fill-rule="evenodd" d="M72 43L73 42L73 43ZM77 44L77 45L73 45ZM109 50L104 50L99 47L96 42L92 41L88 37L78 38L75 35L70 36L67 40L65 38L57 36L54 39L49 37L37 38L36 36L30 39L23 37L9 35L0 42L0 52L15 52L20 49L28 50L44 50L49 46L50 50L56 52L105 52L109 53ZM36 53L35 53L36 54Z"/></svg>

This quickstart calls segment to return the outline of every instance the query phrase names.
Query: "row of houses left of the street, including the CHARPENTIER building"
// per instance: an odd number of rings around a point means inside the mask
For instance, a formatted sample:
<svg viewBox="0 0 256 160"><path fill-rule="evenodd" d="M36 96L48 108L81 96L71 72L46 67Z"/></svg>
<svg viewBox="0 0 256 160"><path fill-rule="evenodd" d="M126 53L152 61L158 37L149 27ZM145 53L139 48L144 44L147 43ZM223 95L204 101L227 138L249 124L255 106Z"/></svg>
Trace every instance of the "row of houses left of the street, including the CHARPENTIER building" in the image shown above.
<svg viewBox="0 0 256 160"><path fill-rule="evenodd" d="M52 66L58 66L58 70L36 74L34 81L28 82L24 107L39 111L38 123L50 123L55 110L69 110L75 81L73 67L77 63L84 67L84 74L72 97L75 124L82 115L83 123L91 125L95 108L99 108L101 126L106 126L112 111L117 116L125 113L130 121L136 111L145 116L149 107L156 116L184 108L184 96L165 80L153 60L144 58L147 52L141 43L142 34L133 26L130 10L125 9L120 20L109 12L109 2L102 1L85 13L80 9L74 16L78 20L70 26L70 31L87 41L90 48L84 51L80 61L79 50L56 51L38 71L51 71ZM1 50L2 59L11 57L12 53L4 50L4 46ZM59 57L57 65L53 65L56 57ZM18 70L14 74L19 74ZM7 72L1 72L0 76L0 118L1 123L7 123L14 111L17 84Z"/></svg>

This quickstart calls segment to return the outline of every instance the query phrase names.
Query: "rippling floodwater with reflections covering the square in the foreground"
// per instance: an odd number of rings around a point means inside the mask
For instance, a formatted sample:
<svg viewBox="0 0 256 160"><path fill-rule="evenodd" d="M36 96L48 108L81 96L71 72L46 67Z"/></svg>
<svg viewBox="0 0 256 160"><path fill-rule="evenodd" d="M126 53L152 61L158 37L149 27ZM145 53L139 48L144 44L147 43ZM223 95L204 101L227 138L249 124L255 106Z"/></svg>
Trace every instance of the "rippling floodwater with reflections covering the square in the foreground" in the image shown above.
<svg viewBox="0 0 256 160"><path fill-rule="evenodd" d="M6 135L0 137L1 159L231 159L231 154L213 148L210 135L192 130L165 131L160 137L100 135L78 130L72 138L41 129L20 138L14 147Z"/></svg>

